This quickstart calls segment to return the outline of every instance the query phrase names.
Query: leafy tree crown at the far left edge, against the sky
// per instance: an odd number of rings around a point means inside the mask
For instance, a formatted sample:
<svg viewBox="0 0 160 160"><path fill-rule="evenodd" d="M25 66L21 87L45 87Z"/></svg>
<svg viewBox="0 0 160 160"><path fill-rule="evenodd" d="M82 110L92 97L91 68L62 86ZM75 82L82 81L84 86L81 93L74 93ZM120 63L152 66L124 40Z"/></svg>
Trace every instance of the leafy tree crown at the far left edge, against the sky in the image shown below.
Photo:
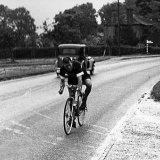
<svg viewBox="0 0 160 160"><path fill-rule="evenodd" d="M34 19L24 7L11 10L0 5L0 48L24 47L26 36L35 30Z"/></svg>

